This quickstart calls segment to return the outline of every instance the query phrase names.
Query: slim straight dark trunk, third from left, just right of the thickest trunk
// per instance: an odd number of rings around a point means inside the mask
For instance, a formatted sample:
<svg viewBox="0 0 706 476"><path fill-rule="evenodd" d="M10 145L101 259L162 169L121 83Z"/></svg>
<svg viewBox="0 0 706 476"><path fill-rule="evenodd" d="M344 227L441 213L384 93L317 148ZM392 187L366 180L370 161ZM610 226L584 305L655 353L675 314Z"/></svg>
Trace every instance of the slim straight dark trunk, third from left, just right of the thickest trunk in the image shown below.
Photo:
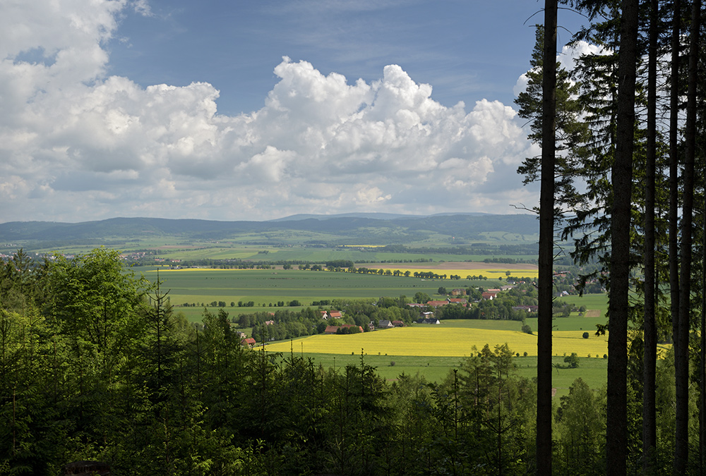
<svg viewBox="0 0 706 476"><path fill-rule="evenodd" d="M657 156L657 21L658 1L650 1L650 47L647 60L647 164L645 184L645 317L642 382L642 469L650 474L657 444L654 389L657 329L654 324L654 175Z"/></svg>

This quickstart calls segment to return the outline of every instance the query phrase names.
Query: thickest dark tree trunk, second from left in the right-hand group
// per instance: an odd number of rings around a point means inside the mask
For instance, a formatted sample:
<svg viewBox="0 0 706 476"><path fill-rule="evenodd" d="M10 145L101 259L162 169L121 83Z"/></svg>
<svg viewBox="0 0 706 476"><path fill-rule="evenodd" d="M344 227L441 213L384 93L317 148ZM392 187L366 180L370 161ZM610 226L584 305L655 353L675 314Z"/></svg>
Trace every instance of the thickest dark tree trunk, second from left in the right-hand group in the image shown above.
<svg viewBox="0 0 706 476"><path fill-rule="evenodd" d="M616 152L612 169L611 275L608 337L606 474L626 475L627 366L630 278L630 209L635 129L635 63L638 59L638 0L623 0L618 51Z"/></svg>

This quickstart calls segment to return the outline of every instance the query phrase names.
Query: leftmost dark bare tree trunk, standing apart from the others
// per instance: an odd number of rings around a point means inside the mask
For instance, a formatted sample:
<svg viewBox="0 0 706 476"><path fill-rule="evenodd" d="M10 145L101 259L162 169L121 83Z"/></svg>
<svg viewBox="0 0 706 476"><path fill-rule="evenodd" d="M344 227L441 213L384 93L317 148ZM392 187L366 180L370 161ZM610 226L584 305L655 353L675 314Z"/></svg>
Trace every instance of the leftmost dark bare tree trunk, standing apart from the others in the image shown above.
<svg viewBox="0 0 706 476"><path fill-rule="evenodd" d="M537 322L537 474L551 475L551 299L554 274L554 154L556 150L556 0L544 2L542 177L539 193Z"/></svg>

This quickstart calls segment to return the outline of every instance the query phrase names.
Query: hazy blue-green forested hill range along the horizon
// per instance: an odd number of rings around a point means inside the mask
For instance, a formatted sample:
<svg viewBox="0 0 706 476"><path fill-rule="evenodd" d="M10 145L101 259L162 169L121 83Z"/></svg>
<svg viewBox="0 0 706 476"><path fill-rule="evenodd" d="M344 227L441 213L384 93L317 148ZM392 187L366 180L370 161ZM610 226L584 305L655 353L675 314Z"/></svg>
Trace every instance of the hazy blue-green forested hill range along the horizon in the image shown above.
<svg viewBox="0 0 706 476"><path fill-rule="evenodd" d="M429 233L453 236L457 240L479 240L484 233L513 233L535 236L537 219L530 214L490 215L455 214L434 216L385 215L373 218L365 214L349 216L293 216L277 221L210 221L196 219L114 218L81 223L52 221L13 221L0 224L0 242L21 240L90 240L93 238L149 238L179 236L185 239L222 240L242 233L306 231L332 236L346 236L378 243L406 243ZM388 244L383 243L383 244Z"/></svg>

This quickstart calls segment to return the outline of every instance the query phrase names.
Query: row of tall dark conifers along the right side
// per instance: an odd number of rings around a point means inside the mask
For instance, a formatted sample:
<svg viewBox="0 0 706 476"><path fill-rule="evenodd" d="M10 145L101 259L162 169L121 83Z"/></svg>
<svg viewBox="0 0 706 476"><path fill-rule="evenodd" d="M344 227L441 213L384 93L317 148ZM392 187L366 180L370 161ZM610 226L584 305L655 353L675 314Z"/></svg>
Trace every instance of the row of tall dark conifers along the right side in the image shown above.
<svg viewBox="0 0 706 476"><path fill-rule="evenodd" d="M580 56L573 71L558 67L558 6L547 0L529 86L517 100L520 115L532 119L532 139L542 145L542 157L527 159L520 169L527 181L542 182L538 468L542 474L551 472L546 419L551 413L551 275L558 226L561 238L575 237L574 260L602 264L597 276L609 290L607 473L625 475L631 460L639 460L645 474L664 472L665 460L671 460L675 475L702 473L706 341L693 338L695 331L706 338L706 213L695 213L698 207L706 210L698 205L706 196L702 3L562 3L590 20L575 40L596 44L599 51ZM676 386L671 456L663 452L656 429L657 336L667 333L674 341ZM629 383L630 341L642 349L639 444L630 441L635 434L628 418L635 398ZM699 432L689 418L694 385L701 396Z"/></svg>

